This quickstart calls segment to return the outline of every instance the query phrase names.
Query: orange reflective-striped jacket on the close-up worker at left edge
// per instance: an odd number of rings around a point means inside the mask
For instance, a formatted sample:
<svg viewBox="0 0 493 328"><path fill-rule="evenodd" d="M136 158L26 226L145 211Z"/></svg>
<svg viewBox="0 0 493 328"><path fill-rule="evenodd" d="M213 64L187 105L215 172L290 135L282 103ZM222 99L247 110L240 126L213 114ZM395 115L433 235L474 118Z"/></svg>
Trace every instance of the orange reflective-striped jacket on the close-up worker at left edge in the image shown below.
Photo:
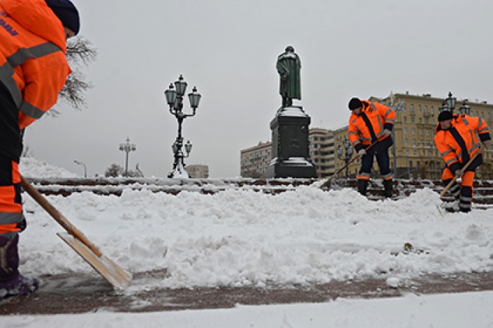
<svg viewBox="0 0 493 328"><path fill-rule="evenodd" d="M20 129L56 103L70 74L65 51L63 25L44 0L0 0L0 82L19 109Z"/></svg>

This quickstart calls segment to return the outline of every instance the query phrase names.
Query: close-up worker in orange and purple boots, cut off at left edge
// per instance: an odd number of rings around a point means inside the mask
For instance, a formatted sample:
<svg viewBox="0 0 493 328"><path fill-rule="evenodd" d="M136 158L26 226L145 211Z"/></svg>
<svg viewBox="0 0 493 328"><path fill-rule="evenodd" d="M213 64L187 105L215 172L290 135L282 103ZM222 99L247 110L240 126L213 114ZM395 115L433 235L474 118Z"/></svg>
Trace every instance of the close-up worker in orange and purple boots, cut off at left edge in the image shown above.
<svg viewBox="0 0 493 328"><path fill-rule="evenodd" d="M79 29L69 0L0 1L0 298L39 285L18 272L21 131L56 103L70 74L66 40Z"/></svg>

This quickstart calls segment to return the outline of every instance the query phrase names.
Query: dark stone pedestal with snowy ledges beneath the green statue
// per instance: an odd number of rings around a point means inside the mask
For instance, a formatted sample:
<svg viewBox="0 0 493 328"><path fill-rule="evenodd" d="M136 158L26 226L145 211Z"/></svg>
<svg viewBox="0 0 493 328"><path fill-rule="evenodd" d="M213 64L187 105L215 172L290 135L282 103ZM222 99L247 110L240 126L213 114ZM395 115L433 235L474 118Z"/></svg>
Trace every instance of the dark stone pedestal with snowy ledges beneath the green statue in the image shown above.
<svg viewBox="0 0 493 328"><path fill-rule="evenodd" d="M272 160L266 177L316 177L308 159L308 116L301 106L281 107L270 121Z"/></svg>

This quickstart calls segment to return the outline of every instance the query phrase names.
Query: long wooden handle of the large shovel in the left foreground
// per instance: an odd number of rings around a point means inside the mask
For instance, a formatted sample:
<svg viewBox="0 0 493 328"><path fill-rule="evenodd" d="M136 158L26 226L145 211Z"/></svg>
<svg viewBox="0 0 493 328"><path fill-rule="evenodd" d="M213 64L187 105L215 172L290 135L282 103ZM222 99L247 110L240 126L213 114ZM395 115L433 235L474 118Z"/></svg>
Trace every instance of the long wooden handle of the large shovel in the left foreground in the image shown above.
<svg viewBox="0 0 493 328"><path fill-rule="evenodd" d="M72 235L74 238L79 239L85 246L87 246L96 256L101 257L103 254L99 251L99 249L92 244L82 232L80 232L79 229L77 229L72 223L70 223L69 220L67 220L66 217L62 215L62 213L58 212L58 210L49 203L49 201L39 193L35 189L35 187L32 187L32 184L27 181L22 175L20 176L20 185L23 187L23 189L27 192L27 194L30 194L30 196L41 206L46 210L46 212L53 217L56 222L58 222L63 229L65 229L70 235Z"/></svg>

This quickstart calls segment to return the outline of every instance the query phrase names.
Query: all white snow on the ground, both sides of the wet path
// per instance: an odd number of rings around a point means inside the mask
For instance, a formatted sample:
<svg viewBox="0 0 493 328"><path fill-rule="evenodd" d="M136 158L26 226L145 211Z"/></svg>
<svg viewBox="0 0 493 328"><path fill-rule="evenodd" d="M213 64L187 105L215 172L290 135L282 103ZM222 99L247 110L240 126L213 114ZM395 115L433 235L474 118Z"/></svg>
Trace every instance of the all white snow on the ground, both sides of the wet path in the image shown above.
<svg viewBox="0 0 493 328"><path fill-rule="evenodd" d="M39 169L36 160L23 160L20 170L34 177L33 165ZM46 174L56 177L56 168ZM437 208L439 195L430 189L399 201L368 201L351 189L316 187L277 196L235 190L171 196L129 189L120 197L83 192L48 198L130 272L167 268L166 279L139 279L127 294L157 287L263 287L363 275L387 277L389 284L398 285L423 272L493 270L493 209L443 215ZM22 272L92 272L58 239L56 232L63 229L29 196L23 200L28 228L20 241ZM427 251L396 255L405 243ZM482 292L138 315L11 316L1 322L10 327L68 322L92 327L101 320L104 327L135 327L142 320L146 327L493 327L492 308L493 292Z"/></svg>

